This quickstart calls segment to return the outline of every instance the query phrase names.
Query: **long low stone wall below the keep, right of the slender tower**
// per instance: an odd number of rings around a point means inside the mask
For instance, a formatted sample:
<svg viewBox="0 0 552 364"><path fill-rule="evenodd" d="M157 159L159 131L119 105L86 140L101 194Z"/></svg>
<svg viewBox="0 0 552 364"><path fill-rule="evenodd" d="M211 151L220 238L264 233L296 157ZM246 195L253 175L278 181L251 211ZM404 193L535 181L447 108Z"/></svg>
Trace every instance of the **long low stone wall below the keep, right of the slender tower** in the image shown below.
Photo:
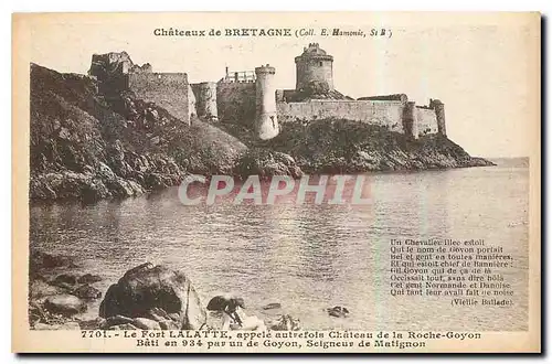
<svg viewBox="0 0 552 364"><path fill-rule="evenodd" d="M352 121L379 125L391 131L404 132L403 109L401 101L355 101L320 100L307 103L278 103L278 121L294 122L340 118Z"/></svg>

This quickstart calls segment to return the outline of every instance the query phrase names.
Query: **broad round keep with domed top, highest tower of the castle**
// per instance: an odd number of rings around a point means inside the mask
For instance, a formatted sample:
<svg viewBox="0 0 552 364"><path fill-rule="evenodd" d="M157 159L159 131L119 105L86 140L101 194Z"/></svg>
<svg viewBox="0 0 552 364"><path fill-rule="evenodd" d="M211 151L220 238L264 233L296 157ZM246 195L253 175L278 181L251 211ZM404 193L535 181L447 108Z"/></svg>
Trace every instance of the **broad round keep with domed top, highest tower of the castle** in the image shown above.
<svg viewBox="0 0 552 364"><path fill-rule="evenodd" d="M333 89L333 56L320 49L318 43L310 43L301 55L295 57L297 83L295 89L300 92L312 84L327 84Z"/></svg>

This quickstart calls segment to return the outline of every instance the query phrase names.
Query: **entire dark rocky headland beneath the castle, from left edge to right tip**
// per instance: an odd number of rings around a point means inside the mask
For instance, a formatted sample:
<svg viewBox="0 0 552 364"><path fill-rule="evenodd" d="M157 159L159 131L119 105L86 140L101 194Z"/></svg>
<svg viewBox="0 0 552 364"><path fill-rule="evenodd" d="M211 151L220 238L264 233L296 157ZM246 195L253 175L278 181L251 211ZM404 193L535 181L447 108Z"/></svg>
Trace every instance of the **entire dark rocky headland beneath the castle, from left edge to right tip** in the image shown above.
<svg viewBox="0 0 552 364"><path fill-rule="evenodd" d="M248 130L183 124L102 81L31 65L30 199L126 197L203 175L341 173L488 165L446 137L411 140L347 120L287 124L258 142Z"/></svg>

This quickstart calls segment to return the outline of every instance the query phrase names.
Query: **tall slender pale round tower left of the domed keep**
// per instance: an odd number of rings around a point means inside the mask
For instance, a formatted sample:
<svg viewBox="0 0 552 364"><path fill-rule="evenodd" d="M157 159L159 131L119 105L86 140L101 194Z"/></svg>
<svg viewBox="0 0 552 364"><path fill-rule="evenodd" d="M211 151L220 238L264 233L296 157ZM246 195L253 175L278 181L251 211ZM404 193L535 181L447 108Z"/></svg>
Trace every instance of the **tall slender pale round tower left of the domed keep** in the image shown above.
<svg viewBox="0 0 552 364"><path fill-rule="evenodd" d="M276 117L275 73L276 68L270 67L268 64L255 68L255 132L263 140L272 139L279 133L278 119Z"/></svg>

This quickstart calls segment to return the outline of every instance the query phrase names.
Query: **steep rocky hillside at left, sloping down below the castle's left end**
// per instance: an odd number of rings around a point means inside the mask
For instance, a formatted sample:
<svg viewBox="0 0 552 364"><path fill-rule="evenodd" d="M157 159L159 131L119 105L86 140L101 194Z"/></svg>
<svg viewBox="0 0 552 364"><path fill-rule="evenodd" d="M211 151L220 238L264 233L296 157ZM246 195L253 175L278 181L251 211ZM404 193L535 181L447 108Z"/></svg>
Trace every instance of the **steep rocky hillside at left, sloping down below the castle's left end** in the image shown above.
<svg viewBox="0 0 552 364"><path fill-rule="evenodd" d="M132 196L187 172L232 173L247 147L201 120L182 124L131 94L31 65L31 200Z"/></svg>

